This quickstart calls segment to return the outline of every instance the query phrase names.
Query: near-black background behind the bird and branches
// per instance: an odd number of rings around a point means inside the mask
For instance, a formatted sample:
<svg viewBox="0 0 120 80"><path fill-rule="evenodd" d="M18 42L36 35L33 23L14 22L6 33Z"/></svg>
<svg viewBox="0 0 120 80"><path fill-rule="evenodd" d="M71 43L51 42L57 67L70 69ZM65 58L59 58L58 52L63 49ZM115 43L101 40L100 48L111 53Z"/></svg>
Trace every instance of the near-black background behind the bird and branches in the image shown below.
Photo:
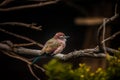
<svg viewBox="0 0 120 80"><path fill-rule="evenodd" d="M26 4L27 2L15 1L9 6ZM71 4L72 3L72 4ZM114 6L116 0L70 0L60 1L56 4L50 4L38 8L22 9L8 12L0 12L0 23L2 22L23 22L23 23L37 23L42 26L42 31L35 31L25 27L16 26L1 26L11 32L27 36L32 38L41 44L44 44L49 38L51 38L56 32L64 32L69 35L70 38L67 41L67 46L63 53L69 53L74 50L93 48L96 47L96 33L100 25L87 26L76 25L74 20L77 17L111 17L114 15ZM118 4L120 4L118 2ZM120 7L118 6L118 13ZM110 26L110 35L117 31L120 31L120 20L117 18ZM93 29L93 35L91 37L91 43L84 46L86 43L86 32L88 28ZM89 36L89 35L88 35ZM11 40L14 43L24 43L26 41L10 36L8 34L0 32L0 41ZM109 47L117 49L120 47L120 35L110 41ZM35 46L35 49L40 49ZM8 80L34 80L29 73L26 64L0 54L0 79ZM5 76L5 77L3 77ZM39 73L39 76L44 76L43 73ZM43 78L45 80L45 78Z"/></svg>

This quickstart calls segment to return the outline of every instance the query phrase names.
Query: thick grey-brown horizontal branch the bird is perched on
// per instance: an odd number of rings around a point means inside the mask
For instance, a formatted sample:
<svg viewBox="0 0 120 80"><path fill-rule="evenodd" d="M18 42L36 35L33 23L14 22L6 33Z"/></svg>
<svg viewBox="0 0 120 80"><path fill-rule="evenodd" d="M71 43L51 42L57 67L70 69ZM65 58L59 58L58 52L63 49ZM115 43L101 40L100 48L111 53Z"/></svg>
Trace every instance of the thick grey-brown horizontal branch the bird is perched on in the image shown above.
<svg viewBox="0 0 120 80"><path fill-rule="evenodd" d="M28 49L28 48L23 48L23 47L11 49L11 47L8 44L3 44L3 43L0 43L0 49L12 51L16 54L26 54L26 55L33 55L33 56L41 55L41 50ZM118 50L107 48L107 47L106 47L106 51L110 52L110 53L120 52ZM68 54L59 53L59 54L54 55L53 57L59 58L61 60L68 60L70 58L80 57L80 56L106 57L106 55L104 53L99 52L98 47L93 48L93 49L84 49L84 50L73 51Z"/></svg>

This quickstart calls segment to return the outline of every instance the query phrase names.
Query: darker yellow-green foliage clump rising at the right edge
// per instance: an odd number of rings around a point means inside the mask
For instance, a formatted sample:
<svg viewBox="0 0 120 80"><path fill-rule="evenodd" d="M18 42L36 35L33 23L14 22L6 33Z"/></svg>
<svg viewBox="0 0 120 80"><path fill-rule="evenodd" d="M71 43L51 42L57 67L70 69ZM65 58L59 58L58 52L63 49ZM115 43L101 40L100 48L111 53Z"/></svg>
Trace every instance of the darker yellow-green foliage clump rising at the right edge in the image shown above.
<svg viewBox="0 0 120 80"><path fill-rule="evenodd" d="M120 79L120 53L114 53L114 57L109 59L106 73L108 80Z"/></svg>

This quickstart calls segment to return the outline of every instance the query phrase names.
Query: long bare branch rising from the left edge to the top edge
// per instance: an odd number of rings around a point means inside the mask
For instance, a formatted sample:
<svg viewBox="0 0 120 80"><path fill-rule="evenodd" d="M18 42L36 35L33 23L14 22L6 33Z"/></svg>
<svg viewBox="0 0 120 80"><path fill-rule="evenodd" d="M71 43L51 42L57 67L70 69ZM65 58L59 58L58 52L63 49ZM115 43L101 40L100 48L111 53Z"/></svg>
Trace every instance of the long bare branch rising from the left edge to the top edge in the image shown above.
<svg viewBox="0 0 120 80"><path fill-rule="evenodd" d="M41 7L41 6L46 6L46 5L49 5L49 4L57 3L58 1L59 0L54 0L54 1L40 2L40 3L37 3L37 4L15 6L15 7L10 7L10 8L1 8L0 11L13 11L13 10Z"/></svg>

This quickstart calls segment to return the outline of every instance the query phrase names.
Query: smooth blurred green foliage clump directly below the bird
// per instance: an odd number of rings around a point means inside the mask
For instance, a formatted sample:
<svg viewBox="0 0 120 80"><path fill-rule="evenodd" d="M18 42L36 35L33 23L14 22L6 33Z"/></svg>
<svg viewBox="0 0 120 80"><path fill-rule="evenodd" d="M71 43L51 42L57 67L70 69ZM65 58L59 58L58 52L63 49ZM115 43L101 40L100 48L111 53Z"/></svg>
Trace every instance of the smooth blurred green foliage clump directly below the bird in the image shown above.
<svg viewBox="0 0 120 80"><path fill-rule="evenodd" d="M72 80L73 70L70 64L63 64L53 59L45 65L45 68L49 80Z"/></svg>

